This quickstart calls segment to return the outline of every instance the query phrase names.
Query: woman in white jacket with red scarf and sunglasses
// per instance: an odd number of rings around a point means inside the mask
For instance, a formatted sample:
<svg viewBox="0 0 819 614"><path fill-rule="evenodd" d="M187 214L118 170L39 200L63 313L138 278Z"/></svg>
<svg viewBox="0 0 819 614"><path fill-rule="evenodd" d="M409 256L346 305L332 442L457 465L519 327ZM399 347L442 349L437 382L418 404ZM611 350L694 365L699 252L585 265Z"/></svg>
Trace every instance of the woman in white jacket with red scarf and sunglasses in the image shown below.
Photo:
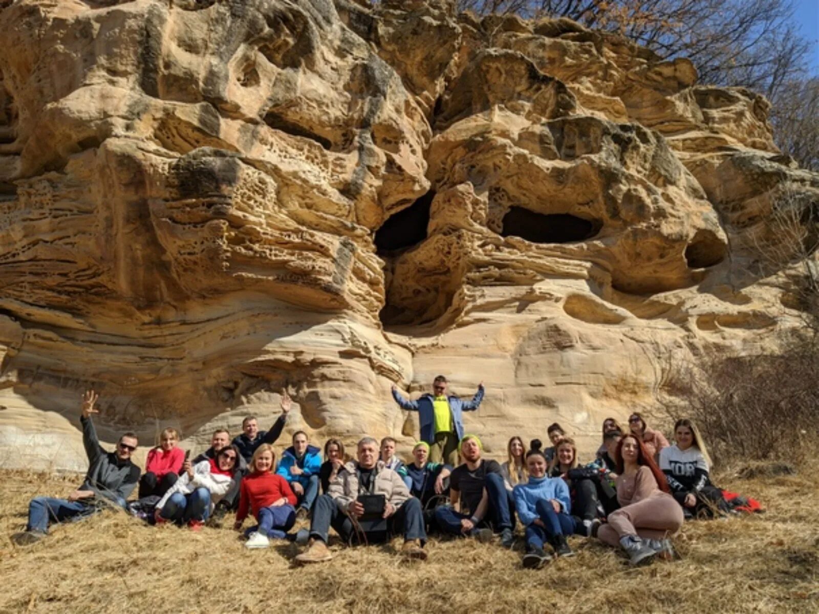
<svg viewBox="0 0 819 614"><path fill-rule="evenodd" d="M216 458L196 464L186 460L179 480L156 503L156 524L184 522L192 530L200 530L216 503L233 486L238 458L241 458L238 448L231 445L219 449Z"/></svg>

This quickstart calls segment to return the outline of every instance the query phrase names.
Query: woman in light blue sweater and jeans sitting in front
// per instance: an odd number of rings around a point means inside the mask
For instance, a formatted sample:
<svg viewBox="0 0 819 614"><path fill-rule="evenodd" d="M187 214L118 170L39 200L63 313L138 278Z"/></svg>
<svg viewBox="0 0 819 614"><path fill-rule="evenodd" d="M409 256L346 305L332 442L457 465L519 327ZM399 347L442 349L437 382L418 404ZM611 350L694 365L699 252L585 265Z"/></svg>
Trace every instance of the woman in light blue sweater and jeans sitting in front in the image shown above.
<svg viewBox="0 0 819 614"><path fill-rule="evenodd" d="M526 554L523 567L536 569L550 559L543 544L549 542L559 557L574 555L566 541L572 535L575 521L569 515L572 502L568 485L559 477L546 475L546 457L540 446L533 447L526 455L529 479L514 487L515 507L523 526L526 527Z"/></svg>

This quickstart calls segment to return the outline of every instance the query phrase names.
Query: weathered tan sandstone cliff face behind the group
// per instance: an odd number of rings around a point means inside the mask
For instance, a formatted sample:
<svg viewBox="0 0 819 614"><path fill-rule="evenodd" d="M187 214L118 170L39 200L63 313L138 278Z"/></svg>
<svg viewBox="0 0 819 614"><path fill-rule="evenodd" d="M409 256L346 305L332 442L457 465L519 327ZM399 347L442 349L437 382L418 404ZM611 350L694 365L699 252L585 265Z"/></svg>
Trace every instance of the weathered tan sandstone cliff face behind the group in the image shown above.
<svg viewBox="0 0 819 614"><path fill-rule="evenodd" d="M492 451L590 449L799 323L754 246L819 178L689 61L450 2L22 0L0 44L6 465L82 466L88 386L109 439L202 444L287 387L291 429L409 442L389 388L438 372L484 382Z"/></svg>

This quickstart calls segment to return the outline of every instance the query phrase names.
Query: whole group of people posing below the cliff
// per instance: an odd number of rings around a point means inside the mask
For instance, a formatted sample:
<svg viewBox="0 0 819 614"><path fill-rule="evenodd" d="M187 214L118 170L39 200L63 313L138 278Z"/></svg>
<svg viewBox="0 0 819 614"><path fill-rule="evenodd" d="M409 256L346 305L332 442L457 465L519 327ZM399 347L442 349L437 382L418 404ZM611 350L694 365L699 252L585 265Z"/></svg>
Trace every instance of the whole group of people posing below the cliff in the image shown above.
<svg viewBox="0 0 819 614"><path fill-rule="evenodd" d="M331 527L346 544L403 535L401 553L425 559L431 531L483 542L499 535L500 544L510 548L519 522L526 541L523 567L572 556L569 535L622 547L638 564L673 558L669 537L686 517L724 514L747 503L728 501L711 484L708 451L690 420L676 422L675 444L669 445L639 413L631 415L628 428L607 418L595 459L582 465L574 441L555 423L547 429L550 447L532 440L527 450L515 436L505 462L498 463L484 458L477 436L464 433L463 412L478 408L483 386L472 400L446 390L443 376L433 381L432 394L415 401L393 387L396 403L419 413L421 440L409 463L396 456L391 437L380 442L363 437L351 459L341 440L330 439L322 458L304 431L294 433L276 463L272 445L291 408L285 393L282 414L269 431L260 431L256 418L248 416L241 435L231 441L228 431L215 431L210 448L192 461L178 447L179 433L165 429L141 477L130 459L138 445L133 433L121 436L114 452L99 445L91 419L97 395L88 391L80 417L89 463L84 482L68 499L33 499L28 526L16 541L34 543L46 535L49 523L112 505L154 524L173 522L192 530L235 512L233 526L247 536L247 548L265 548L277 539L307 544L296 556L300 563L332 558ZM137 486L138 499L128 503ZM245 530L248 516L256 523ZM309 530L292 532L297 520L307 518Z"/></svg>

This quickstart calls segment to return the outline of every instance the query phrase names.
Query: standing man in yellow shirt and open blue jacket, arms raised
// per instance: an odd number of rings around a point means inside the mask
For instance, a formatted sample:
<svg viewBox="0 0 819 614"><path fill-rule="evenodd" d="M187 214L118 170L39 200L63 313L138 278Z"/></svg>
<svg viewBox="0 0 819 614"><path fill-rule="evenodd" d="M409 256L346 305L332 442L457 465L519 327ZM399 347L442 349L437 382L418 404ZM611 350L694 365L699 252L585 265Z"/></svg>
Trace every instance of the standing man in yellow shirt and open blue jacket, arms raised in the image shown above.
<svg viewBox="0 0 819 614"><path fill-rule="evenodd" d="M458 444L464 437L464 412L473 412L483 400L483 384L478 384L472 400L446 395L446 377L439 375L432 381L432 391L417 401L406 400L396 386L392 398L401 409L418 412L421 440L429 444L429 458L433 463L458 464Z"/></svg>

